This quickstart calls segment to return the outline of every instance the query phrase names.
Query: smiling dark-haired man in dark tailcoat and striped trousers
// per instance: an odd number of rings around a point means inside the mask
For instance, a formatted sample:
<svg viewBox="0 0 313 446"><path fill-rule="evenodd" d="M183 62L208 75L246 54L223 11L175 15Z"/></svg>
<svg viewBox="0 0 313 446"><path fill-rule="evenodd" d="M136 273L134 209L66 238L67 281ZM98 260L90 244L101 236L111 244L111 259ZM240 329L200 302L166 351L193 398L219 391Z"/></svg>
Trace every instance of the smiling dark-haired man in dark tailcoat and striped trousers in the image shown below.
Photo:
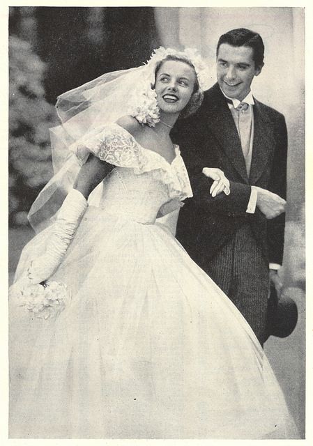
<svg viewBox="0 0 313 446"><path fill-rule="evenodd" d="M181 209L176 236L263 344L270 282L278 293L282 287L287 128L282 114L252 95L264 66L261 36L233 29L220 37L216 55L217 84L173 130L194 194ZM204 167L224 172L228 196L212 197Z"/></svg>

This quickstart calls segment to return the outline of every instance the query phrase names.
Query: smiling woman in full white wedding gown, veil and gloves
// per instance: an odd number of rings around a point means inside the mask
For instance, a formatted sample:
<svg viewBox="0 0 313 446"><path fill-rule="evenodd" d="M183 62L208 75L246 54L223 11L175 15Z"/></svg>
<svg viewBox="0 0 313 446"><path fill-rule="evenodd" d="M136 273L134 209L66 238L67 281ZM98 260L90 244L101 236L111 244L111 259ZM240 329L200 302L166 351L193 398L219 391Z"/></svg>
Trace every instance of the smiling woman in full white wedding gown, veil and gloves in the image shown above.
<svg viewBox="0 0 313 446"><path fill-rule="evenodd" d="M197 54L160 48L59 98L57 172L10 289L16 349L42 318L10 438L296 437L250 325L158 220L192 197L169 131L203 88Z"/></svg>

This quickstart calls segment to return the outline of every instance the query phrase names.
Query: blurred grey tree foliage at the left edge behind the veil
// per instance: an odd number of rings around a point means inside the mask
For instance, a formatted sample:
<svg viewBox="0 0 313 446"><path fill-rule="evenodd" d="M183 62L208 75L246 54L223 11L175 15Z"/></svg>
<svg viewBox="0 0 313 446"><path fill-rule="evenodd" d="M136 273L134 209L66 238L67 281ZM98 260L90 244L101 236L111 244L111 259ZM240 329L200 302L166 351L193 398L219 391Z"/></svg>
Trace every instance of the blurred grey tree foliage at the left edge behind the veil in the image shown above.
<svg viewBox="0 0 313 446"><path fill-rule="evenodd" d="M9 220L26 224L26 213L52 176L49 128L54 107L45 100L45 63L31 43L10 36Z"/></svg>

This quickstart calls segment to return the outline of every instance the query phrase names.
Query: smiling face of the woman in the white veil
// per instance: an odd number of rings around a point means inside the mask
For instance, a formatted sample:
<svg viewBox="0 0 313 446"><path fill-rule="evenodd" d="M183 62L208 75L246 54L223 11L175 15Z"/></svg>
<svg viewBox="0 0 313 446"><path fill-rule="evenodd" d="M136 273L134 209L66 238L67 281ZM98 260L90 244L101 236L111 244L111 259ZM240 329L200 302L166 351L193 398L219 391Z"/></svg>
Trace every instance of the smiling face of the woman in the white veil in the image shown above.
<svg viewBox="0 0 313 446"><path fill-rule="evenodd" d="M163 62L155 75L155 93L160 111L180 113L188 105L196 79L196 73L188 63Z"/></svg>

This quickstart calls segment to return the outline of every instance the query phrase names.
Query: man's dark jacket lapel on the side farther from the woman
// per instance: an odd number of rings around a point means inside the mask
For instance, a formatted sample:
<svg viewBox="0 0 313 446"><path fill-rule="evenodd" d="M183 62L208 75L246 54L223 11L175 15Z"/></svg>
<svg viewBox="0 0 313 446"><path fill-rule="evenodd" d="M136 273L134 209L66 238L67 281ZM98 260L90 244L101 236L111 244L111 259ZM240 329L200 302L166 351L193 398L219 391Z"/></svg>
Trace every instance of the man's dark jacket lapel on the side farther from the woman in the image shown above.
<svg viewBox="0 0 313 446"><path fill-rule="evenodd" d="M266 168L270 155L275 148L273 123L260 102L254 105L254 139L249 183L255 184Z"/></svg>

